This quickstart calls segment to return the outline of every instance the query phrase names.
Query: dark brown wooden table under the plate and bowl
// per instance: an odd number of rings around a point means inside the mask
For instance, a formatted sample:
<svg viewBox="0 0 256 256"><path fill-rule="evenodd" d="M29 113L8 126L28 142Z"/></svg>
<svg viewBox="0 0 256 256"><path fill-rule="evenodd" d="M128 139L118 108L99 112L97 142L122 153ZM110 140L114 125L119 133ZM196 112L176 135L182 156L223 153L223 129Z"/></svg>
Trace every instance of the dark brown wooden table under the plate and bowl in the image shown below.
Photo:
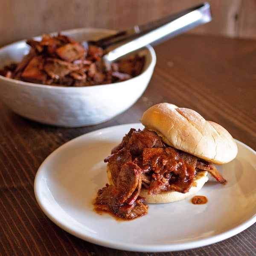
<svg viewBox="0 0 256 256"><path fill-rule="evenodd" d="M256 254L256 224L230 239L193 250L136 253L78 239L38 207L34 178L52 151L89 131L139 122L142 113L159 102L192 108L256 150L256 41L180 35L154 48L157 64L145 93L129 110L108 122L56 128L23 119L0 103L0 255Z"/></svg>

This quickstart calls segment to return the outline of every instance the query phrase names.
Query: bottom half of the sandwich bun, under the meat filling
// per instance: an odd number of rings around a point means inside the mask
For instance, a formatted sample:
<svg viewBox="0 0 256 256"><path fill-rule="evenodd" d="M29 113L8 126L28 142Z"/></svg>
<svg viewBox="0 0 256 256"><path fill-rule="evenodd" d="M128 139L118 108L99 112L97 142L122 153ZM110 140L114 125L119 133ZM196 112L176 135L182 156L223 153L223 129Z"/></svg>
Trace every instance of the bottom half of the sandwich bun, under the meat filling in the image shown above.
<svg viewBox="0 0 256 256"><path fill-rule="evenodd" d="M192 195L195 195L203 186L204 183L207 182L207 171L201 171L198 172L195 176L195 181L192 185L192 187L189 189L189 192L187 193L180 193L180 192L161 192L160 194L156 195L148 195L148 189L142 188L140 191L140 196L145 197L146 201L145 203L148 204L166 204L166 203L172 203L176 201L180 201L186 198L189 198ZM113 185L113 180L111 177L111 171L109 169L109 165L107 165L107 175L108 175L108 181L110 184Z"/></svg>

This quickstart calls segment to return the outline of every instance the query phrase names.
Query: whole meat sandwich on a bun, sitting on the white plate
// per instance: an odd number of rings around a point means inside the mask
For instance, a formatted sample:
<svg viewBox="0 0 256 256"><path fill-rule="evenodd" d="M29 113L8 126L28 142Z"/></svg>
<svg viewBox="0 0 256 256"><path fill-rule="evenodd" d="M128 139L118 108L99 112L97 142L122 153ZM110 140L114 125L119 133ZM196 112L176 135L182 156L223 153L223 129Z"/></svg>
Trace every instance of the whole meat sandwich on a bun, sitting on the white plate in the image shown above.
<svg viewBox="0 0 256 256"><path fill-rule="evenodd" d="M143 130L131 128L105 158L109 184L100 189L96 209L131 219L145 215L144 203L170 203L197 193L210 173L226 180L214 164L236 157L233 137L199 113L169 103L142 116Z"/></svg>

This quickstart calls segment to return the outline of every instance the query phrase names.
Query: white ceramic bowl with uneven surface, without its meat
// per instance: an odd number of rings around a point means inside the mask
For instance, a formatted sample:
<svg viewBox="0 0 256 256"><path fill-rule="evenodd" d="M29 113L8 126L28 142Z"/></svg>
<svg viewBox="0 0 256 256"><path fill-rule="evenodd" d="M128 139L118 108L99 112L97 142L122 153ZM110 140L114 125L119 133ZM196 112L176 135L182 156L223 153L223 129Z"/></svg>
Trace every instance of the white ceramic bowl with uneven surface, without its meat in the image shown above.
<svg viewBox="0 0 256 256"><path fill-rule="evenodd" d="M76 41L96 40L113 34L107 29L72 29L61 32ZM40 39L40 38L37 38ZM20 62L29 52L26 40L0 49L0 68ZM0 100L12 111L44 124L79 127L105 122L133 105L151 79L156 55L151 46L143 51L143 72L132 79L88 87L55 87L0 76Z"/></svg>

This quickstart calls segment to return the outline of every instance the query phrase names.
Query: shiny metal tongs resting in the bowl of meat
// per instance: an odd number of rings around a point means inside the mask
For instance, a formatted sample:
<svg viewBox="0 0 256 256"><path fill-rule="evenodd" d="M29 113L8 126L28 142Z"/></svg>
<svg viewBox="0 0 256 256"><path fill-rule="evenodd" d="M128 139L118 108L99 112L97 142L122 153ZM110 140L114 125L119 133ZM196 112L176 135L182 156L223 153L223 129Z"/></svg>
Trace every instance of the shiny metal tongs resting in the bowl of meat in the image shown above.
<svg viewBox="0 0 256 256"><path fill-rule="evenodd" d="M148 44L162 43L211 20L209 3L203 3L144 25L136 25L132 29L118 32L99 41L87 41L84 44L102 47L104 51L102 60L106 70L110 70L113 61L130 52Z"/></svg>

